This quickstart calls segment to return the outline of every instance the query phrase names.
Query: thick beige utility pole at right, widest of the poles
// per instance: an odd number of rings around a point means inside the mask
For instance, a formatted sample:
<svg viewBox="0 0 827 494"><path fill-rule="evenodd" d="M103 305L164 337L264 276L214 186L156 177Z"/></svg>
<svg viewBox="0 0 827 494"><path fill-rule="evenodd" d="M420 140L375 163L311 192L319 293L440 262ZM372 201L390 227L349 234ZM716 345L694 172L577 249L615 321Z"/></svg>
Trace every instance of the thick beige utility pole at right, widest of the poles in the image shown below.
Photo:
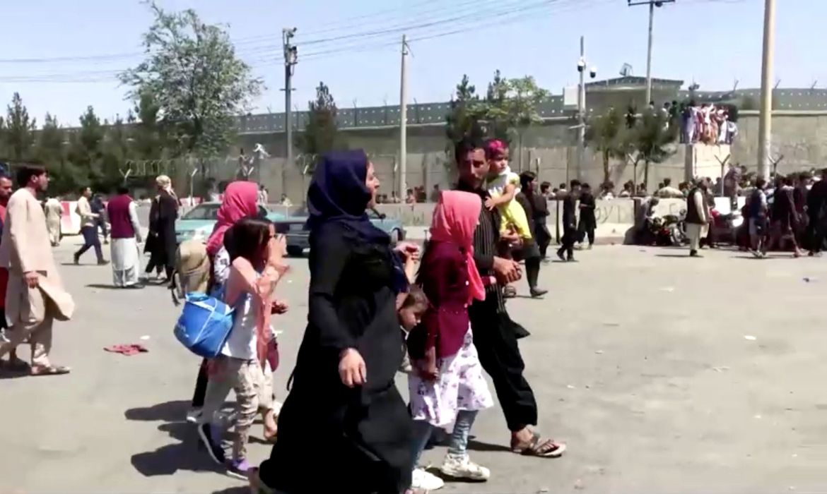
<svg viewBox="0 0 827 494"><path fill-rule="evenodd" d="M764 49L761 64L761 116L758 120L758 175L770 176L772 152L772 57L775 51L775 0L764 4Z"/></svg>

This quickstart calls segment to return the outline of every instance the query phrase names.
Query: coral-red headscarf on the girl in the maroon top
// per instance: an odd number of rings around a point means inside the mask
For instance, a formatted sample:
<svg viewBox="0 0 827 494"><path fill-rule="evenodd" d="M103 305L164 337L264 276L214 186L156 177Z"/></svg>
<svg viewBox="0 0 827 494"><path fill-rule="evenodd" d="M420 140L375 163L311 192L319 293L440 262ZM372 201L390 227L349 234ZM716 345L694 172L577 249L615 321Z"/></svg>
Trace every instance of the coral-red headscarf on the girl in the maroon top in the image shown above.
<svg viewBox="0 0 827 494"><path fill-rule="evenodd" d="M474 230L480 222L482 199L471 192L445 191L439 195L431 221L431 240L453 242L466 253L468 302L485 300L485 286L474 263Z"/></svg>

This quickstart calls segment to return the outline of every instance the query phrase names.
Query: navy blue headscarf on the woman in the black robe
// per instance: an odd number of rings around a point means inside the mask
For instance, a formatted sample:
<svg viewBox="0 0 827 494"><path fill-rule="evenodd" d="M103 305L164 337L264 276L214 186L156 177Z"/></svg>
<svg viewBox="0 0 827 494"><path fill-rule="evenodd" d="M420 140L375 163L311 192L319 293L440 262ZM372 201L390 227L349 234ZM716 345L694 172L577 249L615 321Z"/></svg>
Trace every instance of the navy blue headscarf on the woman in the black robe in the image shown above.
<svg viewBox="0 0 827 494"><path fill-rule="evenodd" d="M332 151L323 155L308 188L311 233L325 223L337 221L347 225L367 243L390 245L390 236L374 226L365 212L370 202L370 191L365 184L367 164L363 150ZM408 280L402 264L395 255L391 254L391 258L394 290L406 292Z"/></svg>

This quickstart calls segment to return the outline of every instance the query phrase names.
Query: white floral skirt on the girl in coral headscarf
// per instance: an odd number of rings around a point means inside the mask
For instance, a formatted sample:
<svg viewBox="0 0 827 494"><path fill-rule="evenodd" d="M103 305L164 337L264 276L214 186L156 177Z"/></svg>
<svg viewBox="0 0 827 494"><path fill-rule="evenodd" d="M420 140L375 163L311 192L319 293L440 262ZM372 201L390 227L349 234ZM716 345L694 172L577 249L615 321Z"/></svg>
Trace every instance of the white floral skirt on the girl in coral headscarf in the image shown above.
<svg viewBox="0 0 827 494"><path fill-rule="evenodd" d="M415 368L417 365L414 364ZM468 328L460 351L437 359L437 368L439 377L433 382L418 377L416 371L408 376L414 420L428 420L431 425L446 427L457 419L457 411L494 406L474 348L471 328Z"/></svg>

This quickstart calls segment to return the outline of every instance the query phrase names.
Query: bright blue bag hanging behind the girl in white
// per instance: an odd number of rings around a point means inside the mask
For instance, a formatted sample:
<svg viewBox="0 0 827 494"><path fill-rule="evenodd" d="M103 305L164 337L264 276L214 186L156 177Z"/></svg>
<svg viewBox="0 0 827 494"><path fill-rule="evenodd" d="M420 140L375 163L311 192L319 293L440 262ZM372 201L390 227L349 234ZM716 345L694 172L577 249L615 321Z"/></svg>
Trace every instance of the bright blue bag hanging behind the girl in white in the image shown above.
<svg viewBox="0 0 827 494"><path fill-rule="evenodd" d="M206 293L188 293L184 297L184 310L175 324L175 338L189 351L206 359L221 353L232 330L235 309L221 299L222 291L214 297Z"/></svg>

